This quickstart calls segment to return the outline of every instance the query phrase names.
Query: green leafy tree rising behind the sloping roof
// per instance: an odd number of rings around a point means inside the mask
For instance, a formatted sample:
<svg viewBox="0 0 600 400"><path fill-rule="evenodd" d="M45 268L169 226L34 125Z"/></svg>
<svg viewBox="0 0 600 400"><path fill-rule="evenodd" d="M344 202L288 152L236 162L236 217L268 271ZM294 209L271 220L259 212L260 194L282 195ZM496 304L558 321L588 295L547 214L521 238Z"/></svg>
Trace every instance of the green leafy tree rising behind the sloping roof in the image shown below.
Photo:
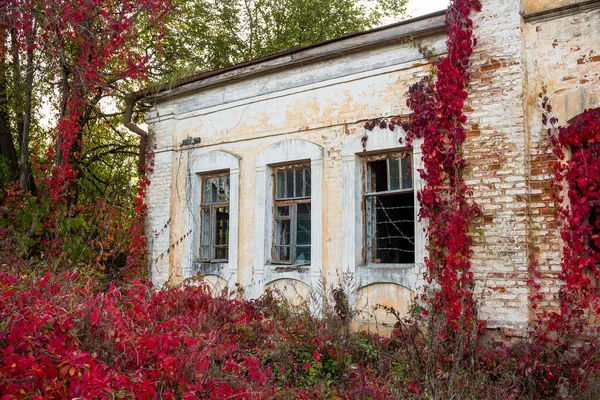
<svg viewBox="0 0 600 400"><path fill-rule="evenodd" d="M175 0L154 79L241 63L405 16L408 0Z"/></svg>

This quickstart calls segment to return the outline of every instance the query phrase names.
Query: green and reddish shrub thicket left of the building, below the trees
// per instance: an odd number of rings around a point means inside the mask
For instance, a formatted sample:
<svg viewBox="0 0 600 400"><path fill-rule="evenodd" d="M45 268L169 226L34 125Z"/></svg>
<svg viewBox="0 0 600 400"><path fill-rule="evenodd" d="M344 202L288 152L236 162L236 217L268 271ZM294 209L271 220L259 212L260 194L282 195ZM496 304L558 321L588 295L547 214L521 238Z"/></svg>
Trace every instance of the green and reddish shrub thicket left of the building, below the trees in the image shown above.
<svg viewBox="0 0 600 400"><path fill-rule="evenodd" d="M95 204L67 207L52 203L44 194L33 196L12 184L0 188L0 265L2 271L35 273L72 271L95 276L99 287L113 279L144 279L145 258L128 263L135 227L143 220L135 218L127 205ZM115 202L116 203L116 202ZM136 246L145 246L145 242ZM129 268L126 268L129 267ZM133 271L129 271L133 269Z"/></svg>

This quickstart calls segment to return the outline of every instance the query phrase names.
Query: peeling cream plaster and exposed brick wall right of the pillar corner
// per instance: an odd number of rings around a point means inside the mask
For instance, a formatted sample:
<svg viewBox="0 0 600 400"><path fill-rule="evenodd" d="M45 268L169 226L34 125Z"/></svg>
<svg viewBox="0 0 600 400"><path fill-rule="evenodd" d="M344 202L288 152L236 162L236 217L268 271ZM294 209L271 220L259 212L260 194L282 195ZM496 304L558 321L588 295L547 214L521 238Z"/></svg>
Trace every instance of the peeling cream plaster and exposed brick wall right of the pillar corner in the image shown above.
<svg viewBox="0 0 600 400"><path fill-rule="evenodd" d="M531 255L539 261L542 272L545 296L540 309L547 309L558 304L561 241L551 198L554 158L542 126L540 96L548 97L560 126L568 125L586 109L600 107L600 2L581 12L566 9L533 21L526 17L523 36Z"/></svg>

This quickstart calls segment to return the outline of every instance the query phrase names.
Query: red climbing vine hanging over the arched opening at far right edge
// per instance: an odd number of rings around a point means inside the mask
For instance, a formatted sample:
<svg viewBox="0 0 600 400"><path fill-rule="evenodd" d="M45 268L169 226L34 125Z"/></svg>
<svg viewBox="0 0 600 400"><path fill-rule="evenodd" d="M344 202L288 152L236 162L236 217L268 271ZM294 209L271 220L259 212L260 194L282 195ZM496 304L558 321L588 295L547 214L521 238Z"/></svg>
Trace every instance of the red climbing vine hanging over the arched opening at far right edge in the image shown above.
<svg viewBox="0 0 600 400"><path fill-rule="evenodd" d="M554 195L563 240L560 313L550 315L548 327L580 334L600 311L600 110L586 110L571 125L556 128L546 97L542 107L557 157Z"/></svg>

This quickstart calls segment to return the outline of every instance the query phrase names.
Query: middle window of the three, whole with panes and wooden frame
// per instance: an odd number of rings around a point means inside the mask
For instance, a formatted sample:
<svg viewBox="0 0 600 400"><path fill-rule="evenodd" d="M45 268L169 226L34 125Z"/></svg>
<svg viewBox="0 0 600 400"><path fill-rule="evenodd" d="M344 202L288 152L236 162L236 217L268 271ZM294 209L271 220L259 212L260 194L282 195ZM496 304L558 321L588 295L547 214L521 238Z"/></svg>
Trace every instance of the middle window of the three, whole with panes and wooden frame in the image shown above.
<svg viewBox="0 0 600 400"><path fill-rule="evenodd" d="M276 168L272 260L310 264L310 166Z"/></svg>

